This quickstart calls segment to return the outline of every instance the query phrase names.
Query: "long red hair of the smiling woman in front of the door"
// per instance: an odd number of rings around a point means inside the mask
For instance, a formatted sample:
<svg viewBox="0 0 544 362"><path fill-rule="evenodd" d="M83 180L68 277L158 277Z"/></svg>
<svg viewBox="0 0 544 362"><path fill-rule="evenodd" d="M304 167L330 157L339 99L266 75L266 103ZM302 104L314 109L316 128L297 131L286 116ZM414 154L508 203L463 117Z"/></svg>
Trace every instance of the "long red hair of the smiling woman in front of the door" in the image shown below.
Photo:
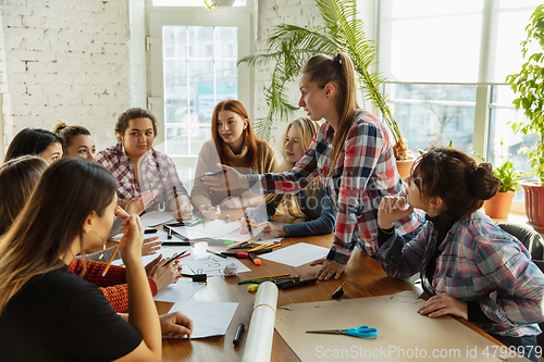
<svg viewBox="0 0 544 362"><path fill-rule="evenodd" d="M254 127L251 126L251 122L249 121L249 115L247 113L246 108L242 104L240 101L235 99L226 99L219 102L213 109L213 115L211 117L211 136L213 137L213 141L215 143L215 149L218 150L219 160L222 164L228 164L226 162L226 155L223 151L223 146L225 141L218 134L218 117L219 112L221 111L230 111L234 112L240 116L243 121L247 122L246 129L242 133L243 145L247 146L247 155L245 158L245 164L243 167L254 167L257 163L258 158L258 145L264 143L264 141L260 140L254 133Z"/></svg>

